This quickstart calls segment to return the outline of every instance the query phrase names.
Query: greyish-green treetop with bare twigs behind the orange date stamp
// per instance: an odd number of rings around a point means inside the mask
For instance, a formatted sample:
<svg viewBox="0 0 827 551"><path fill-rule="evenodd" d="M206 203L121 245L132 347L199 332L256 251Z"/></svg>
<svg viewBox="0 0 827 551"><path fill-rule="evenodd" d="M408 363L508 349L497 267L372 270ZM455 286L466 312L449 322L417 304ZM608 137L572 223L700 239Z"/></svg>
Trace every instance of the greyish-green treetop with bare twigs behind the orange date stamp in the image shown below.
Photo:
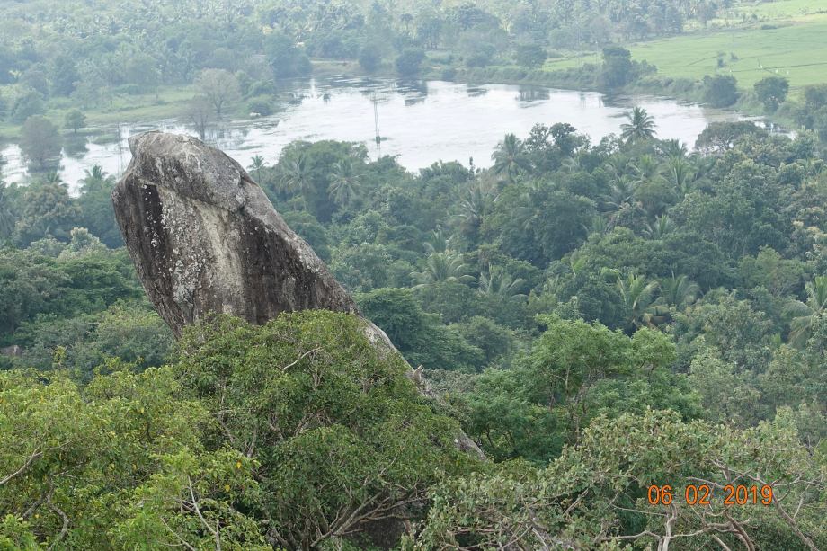
<svg viewBox="0 0 827 551"><path fill-rule="evenodd" d="M671 412L600 419L583 432L578 446L565 449L547 468L512 462L494 473L445 480L431 493L427 520L405 538L403 548L459 549L472 538L480 547L582 542L583 548L608 550L625 548L621 546L629 539L640 545L680 545L689 537L693 545L707 538L713 543L712 537L721 541L726 530L738 531L754 545L767 537L765 524L745 521L755 518L758 506L749 502L727 508L723 498L713 496L708 507L725 519L718 523L700 514L703 505L684 499L690 484L720 491L746 473L759 487L773 483L775 507L760 507L761 518L777 527L787 545L814 548L814 540L823 539L823 530L816 528L820 499L806 488L821 487L823 473L820 459L809 456L796 439L795 429L780 417L748 431L682 422ZM795 471L796 477L777 478L785 471ZM669 484L671 504L650 505L645 496L650 484ZM793 495L798 497L789 499ZM798 509L799 498L809 511ZM789 515L793 510L801 514L799 520ZM675 520L680 520L677 526Z"/></svg>

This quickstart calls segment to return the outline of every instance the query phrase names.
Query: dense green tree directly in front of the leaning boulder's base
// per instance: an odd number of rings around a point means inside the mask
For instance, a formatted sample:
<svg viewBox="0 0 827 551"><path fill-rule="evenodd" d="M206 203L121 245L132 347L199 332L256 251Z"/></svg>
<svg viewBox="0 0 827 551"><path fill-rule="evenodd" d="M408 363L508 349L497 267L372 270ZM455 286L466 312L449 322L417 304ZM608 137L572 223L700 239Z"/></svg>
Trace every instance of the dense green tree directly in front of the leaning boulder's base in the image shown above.
<svg viewBox="0 0 827 551"><path fill-rule="evenodd" d="M438 471L473 458L458 426L431 413L408 367L380 353L352 315L281 315L261 327L218 316L189 330L176 371L218 412L211 438L257 455L254 469L284 547L318 547L362 520L409 516ZM347 512L348 514L343 514Z"/></svg>

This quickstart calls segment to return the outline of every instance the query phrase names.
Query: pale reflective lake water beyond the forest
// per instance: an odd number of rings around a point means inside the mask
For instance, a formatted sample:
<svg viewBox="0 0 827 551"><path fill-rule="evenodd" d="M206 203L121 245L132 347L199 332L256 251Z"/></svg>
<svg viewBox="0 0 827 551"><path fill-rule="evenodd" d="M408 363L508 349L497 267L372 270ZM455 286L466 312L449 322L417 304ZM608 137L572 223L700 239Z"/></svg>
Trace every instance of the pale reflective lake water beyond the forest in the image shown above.
<svg viewBox="0 0 827 551"><path fill-rule="evenodd" d="M283 111L261 119L228 122L208 141L244 166L255 155L274 163L281 149L294 139L364 142L375 159L376 115L381 154L396 155L400 164L415 171L438 160L467 165L469 157L478 167L490 166L491 153L505 134L513 132L525 138L538 122L548 126L567 122L596 143L609 133L620 133L633 104L654 116L658 138L677 138L690 148L709 122L745 119L732 111L707 110L657 96L609 100L600 93L540 86L312 78L282 83L282 87L293 98ZM196 135L182 121L159 120L112 126L106 129L112 136L108 144L94 144L91 137L67 139L60 162L63 181L76 191L84 169L93 164L120 176L129 164L127 139L149 129ZM2 155L6 160L4 180L24 182L26 167L20 148L5 147Z"/></svg>

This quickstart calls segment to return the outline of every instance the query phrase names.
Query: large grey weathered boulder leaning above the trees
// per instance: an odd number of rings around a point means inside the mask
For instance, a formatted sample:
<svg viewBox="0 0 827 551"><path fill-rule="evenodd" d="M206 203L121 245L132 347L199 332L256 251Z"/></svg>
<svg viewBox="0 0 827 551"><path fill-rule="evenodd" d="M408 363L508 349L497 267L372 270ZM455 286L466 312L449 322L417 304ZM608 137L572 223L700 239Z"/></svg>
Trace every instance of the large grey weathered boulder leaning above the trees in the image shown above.
<svg viewBox="0 0 827 551"><path fill-rule="evenodd" d="M132 161L112 192L115 218L147 297L176 338L210 310L250 324L307 309L363 318L234 159L200 139L156 131L132 136L129 148ZM376 325L368 322L366 333L396 350ZM422 369L409 377L433 396ZM465 434L457 444L482 457Z"/></svg>

